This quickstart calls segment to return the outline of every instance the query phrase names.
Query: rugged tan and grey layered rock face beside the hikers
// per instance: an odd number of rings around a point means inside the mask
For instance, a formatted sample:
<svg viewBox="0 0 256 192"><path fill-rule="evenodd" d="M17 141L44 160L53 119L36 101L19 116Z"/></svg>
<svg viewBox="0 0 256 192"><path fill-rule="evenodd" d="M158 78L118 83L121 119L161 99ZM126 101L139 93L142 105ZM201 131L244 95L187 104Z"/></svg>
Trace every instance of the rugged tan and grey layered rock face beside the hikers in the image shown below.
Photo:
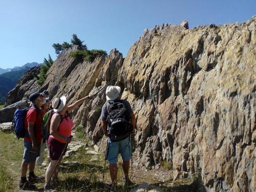
<svg viewBox="0 0 256 192"><path fill-rule="evenodd" d="M122 73L113 84L137 116L137 166L157 168L164 160L174 170L198 174L202 191L256 191L255 28L255 16L190 30L156 26L144 31L125 59L114 49L79 62L69 57L77 49L72 47L54 61L39 89L51 97L65 94L71 103ZM73 112L75 125L83 125L100 150L106 142L98 120L104 92Z"/></svg>

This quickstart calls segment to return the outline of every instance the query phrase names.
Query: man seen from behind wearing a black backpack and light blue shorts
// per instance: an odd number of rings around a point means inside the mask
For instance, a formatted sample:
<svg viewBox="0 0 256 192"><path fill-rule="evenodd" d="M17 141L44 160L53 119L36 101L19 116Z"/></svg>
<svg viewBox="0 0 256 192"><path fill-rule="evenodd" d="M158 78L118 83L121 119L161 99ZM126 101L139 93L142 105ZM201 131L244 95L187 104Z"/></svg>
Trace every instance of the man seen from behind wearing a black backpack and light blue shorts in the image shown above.
<svg viewBox="0 0 256 192"><path fill-rule="evenodd" d="M121 88L119 86L107 87L107 102L103 105L100 116L102 130L105 136L108 137L106 157L109 162L112 190L116 190L117 157L119 153L123 159L124 185L132 184L129 180L130 159L132 157L131 134L134 134L136 118L130 103L121 100L120 92Z"/></svg>

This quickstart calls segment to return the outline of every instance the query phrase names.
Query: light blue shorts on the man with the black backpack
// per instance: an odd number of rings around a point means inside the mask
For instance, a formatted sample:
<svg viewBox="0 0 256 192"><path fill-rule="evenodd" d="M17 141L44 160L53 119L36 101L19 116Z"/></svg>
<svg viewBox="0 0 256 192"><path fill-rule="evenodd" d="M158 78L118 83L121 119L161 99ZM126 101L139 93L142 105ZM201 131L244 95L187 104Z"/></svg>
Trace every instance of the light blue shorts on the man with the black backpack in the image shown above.
<svg viewBox="0 0 256 192"><path fill-rule="evenodd" d="M116 164L118 154L121 154L123 161L130 161L132 157L132 146L130 137L122 141L110 141L108 139L107 159L109 164Z"/></svg>

